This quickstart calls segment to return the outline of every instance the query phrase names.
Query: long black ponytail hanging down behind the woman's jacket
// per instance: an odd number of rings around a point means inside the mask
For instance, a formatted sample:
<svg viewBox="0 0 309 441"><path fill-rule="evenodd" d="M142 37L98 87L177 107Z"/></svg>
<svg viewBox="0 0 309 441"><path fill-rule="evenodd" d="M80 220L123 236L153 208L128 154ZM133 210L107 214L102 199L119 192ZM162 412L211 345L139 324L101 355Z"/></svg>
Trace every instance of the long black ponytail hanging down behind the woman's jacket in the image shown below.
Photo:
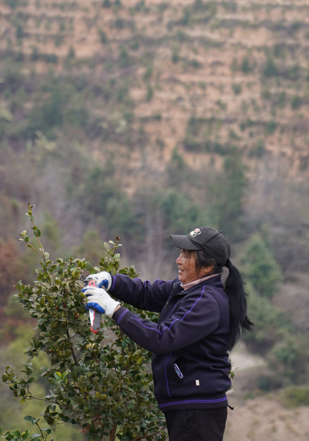
<svg viewBox="0 0 309 441"><path fill-rule="evenodd" d="M227 350L232 351L232 348L239 340L240 330L243 333L251 331L253 322L247 316L246 293L241 274L229 259L226 261L225 266L229 271L228 278L225 280L225 292L230 306L230 333Z"/></svg>

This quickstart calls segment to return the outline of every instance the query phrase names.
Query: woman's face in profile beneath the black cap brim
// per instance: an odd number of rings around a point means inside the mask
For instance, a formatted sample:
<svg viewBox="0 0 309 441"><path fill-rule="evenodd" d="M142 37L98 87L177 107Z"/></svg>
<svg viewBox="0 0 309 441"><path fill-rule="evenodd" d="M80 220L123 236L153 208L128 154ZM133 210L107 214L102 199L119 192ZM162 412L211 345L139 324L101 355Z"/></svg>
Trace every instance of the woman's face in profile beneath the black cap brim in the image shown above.
<svg viewBox="0 0 309 441"><path fill-rule="evenodd" d="M176 260L180 282L187 284L202 277L210 276L213 266L203 266L197 270L195 267L195 252L181 250Z"/></svg>

